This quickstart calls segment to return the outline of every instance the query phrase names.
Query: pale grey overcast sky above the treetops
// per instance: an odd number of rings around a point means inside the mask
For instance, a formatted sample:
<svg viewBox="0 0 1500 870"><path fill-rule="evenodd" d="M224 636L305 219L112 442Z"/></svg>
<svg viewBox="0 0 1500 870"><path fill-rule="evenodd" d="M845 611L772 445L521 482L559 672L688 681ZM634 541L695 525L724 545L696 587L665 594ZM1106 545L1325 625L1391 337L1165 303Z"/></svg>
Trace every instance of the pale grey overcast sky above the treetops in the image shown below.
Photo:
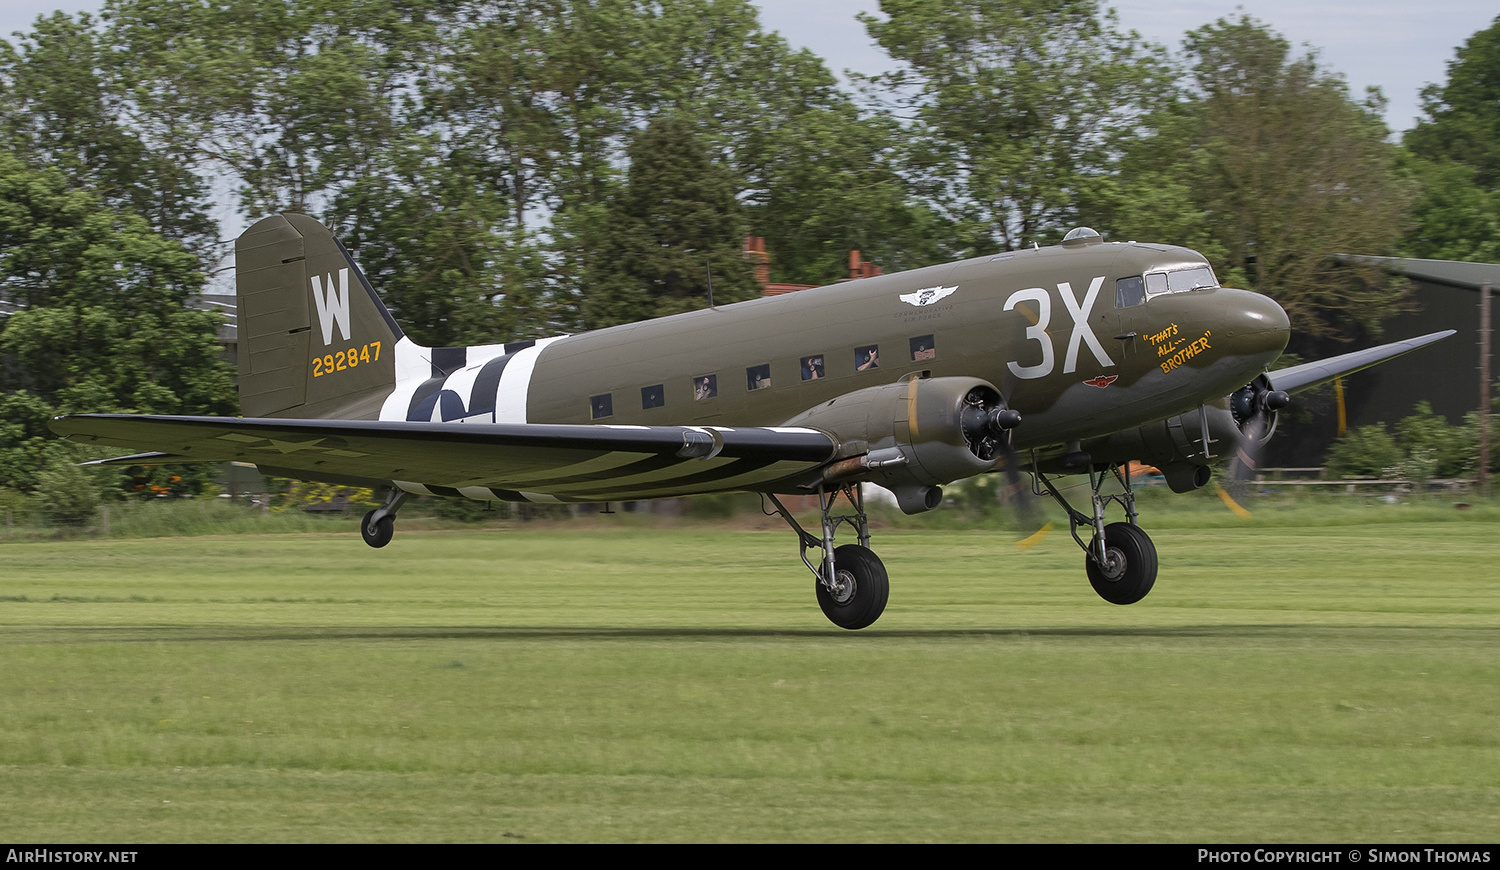
<svg viewBox="0 0 1500 870"><path fill-rule="evenodd" d="M855 21L876 0L758 0L760 20L794 45L813 50L836 72L880 72L885 56ZM1454 50L1496 20L1494 0L1118 0L1120 24L1178 48L1188 30L1236 15L1264 21L1294 45L1318 50L1352 93L1376 86L1386 94L1386 123L1404 130L1420 114L1419 92L1448 78ZM96 10L102 0L0 0L0 34L30 30L38 15Z"/></svg>

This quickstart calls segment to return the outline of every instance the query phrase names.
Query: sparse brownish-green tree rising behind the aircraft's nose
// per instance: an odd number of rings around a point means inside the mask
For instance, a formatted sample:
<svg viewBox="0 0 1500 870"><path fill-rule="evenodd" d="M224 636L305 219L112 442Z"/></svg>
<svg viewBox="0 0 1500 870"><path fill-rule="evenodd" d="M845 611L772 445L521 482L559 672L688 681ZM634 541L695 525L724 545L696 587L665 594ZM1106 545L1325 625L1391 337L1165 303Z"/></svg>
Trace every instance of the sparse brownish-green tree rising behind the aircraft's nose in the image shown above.
<svg viewBox="0 0 1500 870"><path fill-rule="evenodd" d="M1113 196L1118 237L1186 243L1220 278L1269 294L1302 334L1378 330L1401 285L1330 254L1390 252L1410 190L1382 100L1350 99L1312 56L1248 16L1186 34L1191 81L1131 147Z"/></svg>

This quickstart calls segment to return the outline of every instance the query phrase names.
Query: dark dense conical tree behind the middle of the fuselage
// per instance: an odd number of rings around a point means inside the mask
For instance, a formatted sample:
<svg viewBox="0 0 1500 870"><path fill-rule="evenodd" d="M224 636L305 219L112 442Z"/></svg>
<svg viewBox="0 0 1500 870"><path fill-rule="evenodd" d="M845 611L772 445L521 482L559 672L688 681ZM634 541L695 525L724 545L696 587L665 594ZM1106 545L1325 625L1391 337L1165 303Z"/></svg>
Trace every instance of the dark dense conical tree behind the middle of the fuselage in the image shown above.
<svg viewBox="0 0 1500 870"><path fill-rule="evenodd" d="M624 189L608 204L609 236L585 303L592 328L678 314L756 294L740 256L744 216L734 176L710 160L693 124L651 122L627 152Z"/></svg>

